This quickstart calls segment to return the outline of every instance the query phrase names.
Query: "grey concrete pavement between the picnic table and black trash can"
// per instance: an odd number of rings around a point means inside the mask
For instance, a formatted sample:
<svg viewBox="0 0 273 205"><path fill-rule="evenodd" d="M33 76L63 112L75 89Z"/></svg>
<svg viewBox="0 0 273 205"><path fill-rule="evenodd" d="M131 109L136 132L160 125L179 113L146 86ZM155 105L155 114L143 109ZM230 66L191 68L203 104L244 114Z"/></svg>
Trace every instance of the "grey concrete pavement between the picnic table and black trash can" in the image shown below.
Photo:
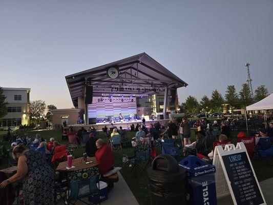
<svg viewBox="0 0 273 205"><path fill-rule="evenodd" d="M118 177L119 180L117 183L114 183L114 189L112 189L111 192L108 194L108 200L101 202L101 205L139 205L135 196L133 195L124 178L119 172ZM76 203L76 205L81 204L84 203L80 201Z"/></svg>

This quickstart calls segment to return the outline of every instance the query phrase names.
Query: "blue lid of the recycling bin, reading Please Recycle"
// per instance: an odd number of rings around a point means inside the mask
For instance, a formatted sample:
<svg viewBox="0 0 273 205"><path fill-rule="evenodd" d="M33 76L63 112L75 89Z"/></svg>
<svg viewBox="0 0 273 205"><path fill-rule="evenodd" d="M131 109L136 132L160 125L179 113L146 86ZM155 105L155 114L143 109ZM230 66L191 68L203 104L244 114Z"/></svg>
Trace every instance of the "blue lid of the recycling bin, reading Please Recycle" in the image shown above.
<svg viewBox="0 0 273 205"><path fill-rule="evenodd" d="M178 163L179 166L186 169L186 175L191 177L202 176L215 172L215 166L209 165L194 155L189 155Z"/></svg>

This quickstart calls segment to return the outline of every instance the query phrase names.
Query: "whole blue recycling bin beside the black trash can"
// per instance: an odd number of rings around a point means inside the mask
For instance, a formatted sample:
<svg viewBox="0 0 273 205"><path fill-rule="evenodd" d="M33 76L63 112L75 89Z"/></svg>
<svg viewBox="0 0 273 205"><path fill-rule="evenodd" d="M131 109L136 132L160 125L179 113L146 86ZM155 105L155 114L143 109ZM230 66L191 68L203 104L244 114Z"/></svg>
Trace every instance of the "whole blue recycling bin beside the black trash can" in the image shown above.
<svg viewBox="0 0 273 205"><path fill-rule="evenodd" d="M188 205L217 204L215 166L208 165L194 155L179 162L186 169L185 190Z"/></svg>

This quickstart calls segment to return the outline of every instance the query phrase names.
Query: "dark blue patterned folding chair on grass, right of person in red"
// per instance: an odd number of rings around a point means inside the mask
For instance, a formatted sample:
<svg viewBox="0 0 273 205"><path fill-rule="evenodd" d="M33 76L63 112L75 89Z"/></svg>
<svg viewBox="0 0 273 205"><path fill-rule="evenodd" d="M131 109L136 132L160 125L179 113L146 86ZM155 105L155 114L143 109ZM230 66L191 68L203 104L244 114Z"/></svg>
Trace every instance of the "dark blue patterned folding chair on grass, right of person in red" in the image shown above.
<svg viewBox="0 0 273 205"><path fill-rule="evenodd" d="M145 171L146 167L151 163L151 147L148 144L137 145L134 148L134 156L129 157L129 165L132 166L131 172L135 170L137 177L137 169ZM145 167L142 168L141 164L145 163Z"/></svg>

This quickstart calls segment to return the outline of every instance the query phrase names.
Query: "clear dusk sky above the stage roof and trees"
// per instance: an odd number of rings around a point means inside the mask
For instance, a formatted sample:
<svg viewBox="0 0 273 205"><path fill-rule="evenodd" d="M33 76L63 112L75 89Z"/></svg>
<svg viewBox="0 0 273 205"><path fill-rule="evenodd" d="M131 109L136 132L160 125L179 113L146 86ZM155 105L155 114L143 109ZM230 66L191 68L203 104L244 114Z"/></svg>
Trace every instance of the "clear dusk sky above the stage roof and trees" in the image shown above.
<svg viewBox="0 0 273 205"><path fill-rule="evenodd" d="M227 85L250 63L273 92L273 1L0 0L0 86L72 108L65 76L146 52L184 80L182 103Z"/></svg>

